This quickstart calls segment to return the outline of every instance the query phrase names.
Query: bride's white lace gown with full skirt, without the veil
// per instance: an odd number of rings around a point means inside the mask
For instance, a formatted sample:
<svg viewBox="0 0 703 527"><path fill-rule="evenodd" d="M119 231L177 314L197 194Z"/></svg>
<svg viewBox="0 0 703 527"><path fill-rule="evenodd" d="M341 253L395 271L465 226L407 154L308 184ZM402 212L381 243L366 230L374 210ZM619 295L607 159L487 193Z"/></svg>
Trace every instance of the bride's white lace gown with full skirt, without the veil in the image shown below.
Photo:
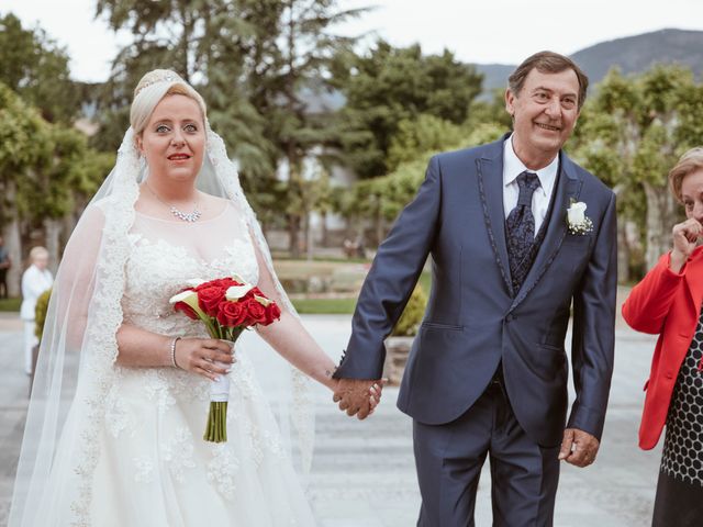
<svg viewBox="0 0 703 527"><path fill-rule="evenodd" d="M163 335L204 336L199 323L168 304L186 280L236 272L258 281L248 232L230 204L193 224L137 213L130 238L122 302L127 324ZM210 381L174 368L115 368L99 439L91 525L314 525L246 356L238 356L231 373L224 444L202 439Z"/></svg>

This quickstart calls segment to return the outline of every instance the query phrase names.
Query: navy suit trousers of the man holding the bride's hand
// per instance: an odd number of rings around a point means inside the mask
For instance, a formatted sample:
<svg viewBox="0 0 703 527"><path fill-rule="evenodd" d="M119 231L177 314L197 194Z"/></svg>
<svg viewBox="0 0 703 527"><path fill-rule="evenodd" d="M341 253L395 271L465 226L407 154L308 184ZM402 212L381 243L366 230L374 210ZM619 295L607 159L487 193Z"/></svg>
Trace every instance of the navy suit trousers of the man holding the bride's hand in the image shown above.
<svg viewBox="0 0 703 527"><path fill-rule="evenodd" d="M473 527L476 491L487 456L493 526L553 525L559 447L544 448L526 436L502 375L493 378L456 421L445 425L415 421L413 442L422 494L419 527Z"/></svg>

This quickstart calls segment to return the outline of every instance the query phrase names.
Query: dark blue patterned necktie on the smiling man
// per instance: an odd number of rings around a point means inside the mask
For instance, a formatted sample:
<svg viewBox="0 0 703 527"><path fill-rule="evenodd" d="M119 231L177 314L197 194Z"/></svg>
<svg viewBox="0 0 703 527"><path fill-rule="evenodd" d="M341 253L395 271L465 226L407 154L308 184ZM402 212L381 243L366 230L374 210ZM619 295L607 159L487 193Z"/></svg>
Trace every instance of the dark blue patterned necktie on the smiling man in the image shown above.
<svg viewBox="0 0 703 527"><path fill-rule="evenodd" d="M507 215L507 220L505 220L507 260L514 294L517 294L532 266L529 254L535 243L535 216L532 214L532 194L539 187L539 179L536 173L524 171L517 176L517 187L520 187L517 204Z"/></svg>

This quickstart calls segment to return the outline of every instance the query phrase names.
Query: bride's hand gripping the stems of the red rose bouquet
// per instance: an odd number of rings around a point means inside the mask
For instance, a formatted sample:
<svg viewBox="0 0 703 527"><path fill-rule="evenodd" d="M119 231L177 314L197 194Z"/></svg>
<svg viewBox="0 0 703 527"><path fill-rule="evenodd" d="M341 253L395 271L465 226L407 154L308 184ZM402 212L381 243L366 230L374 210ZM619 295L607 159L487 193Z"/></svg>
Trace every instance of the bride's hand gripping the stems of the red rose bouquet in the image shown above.
<svg viewBox="0 0 703 527"><path fill-rule="evenodd" d="M179 338L176 343L176 366L212 381L230 372L236 362L232 348L215 338Z"/></svg>

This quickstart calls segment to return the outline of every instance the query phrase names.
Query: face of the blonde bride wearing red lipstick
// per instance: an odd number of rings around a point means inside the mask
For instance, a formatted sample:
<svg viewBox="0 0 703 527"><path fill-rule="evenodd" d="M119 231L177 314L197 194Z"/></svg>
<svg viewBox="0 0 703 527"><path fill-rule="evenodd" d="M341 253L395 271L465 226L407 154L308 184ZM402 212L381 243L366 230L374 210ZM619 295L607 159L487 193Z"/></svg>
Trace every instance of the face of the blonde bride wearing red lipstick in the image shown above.
<svg viewBox="0 0 703 527"><path fill-rule="evenodd" d="M194 181L205 148L198 103L181 94L166 96L137 137L137 146L149 166L149 177Z"/></svg>

